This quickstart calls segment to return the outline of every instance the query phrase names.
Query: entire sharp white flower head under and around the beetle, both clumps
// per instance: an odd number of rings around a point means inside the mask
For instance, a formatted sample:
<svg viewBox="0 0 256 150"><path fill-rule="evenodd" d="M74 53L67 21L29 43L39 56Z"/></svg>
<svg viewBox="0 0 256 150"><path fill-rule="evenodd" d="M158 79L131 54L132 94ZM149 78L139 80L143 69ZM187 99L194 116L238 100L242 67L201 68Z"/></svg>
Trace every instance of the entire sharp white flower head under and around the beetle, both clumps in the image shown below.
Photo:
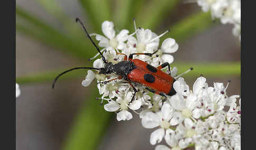
<svg viewBox="0 0 256 150"><path fill-rule="evenodd" d="M178 50L178 44L174 39L165 39L159 48L159 38L163 34L157 36L149 29L137 29L135 22L134 26L135 33L129 35L129 31L124 29L116 35L113 23L105 21L102 24L102 31L106 37L91 34L100 41L99 46L103 47L103 56L108 62L122 61L124 56L118 55L119 52L130 55L136 52L153 53L156 50L158 51L153 57L138 55L134 58L146 61L154 67L164 62L173 62L170 53ZM136 38L133 35L136 35ZM96 59L93 67L103 68L103 60ZM171 69L171 76L175 77L176 72L175 67ZM94 78L97 79L97 88L102 94L99 99L107 101L104 109L115 112L118 121L131 120L133 116L130 111L134 111L140 115L143 127L157 127L150 136L150 143L155 145L164 138L168 144L157 145L157 150L178 150L186 147L237 150L241 147L241 110L236 104L239 95L228 97L228 85L224 87L223 83L214 83L213 87L209 87L206 79L199 77L190 90L189 85L180 77L173 83L177 93L172 97L167 96L166 99L134 83L138 92L134 101L131 101L134 91L125 80L117 79L115 74L103 75L88 70L82 85L87 87ZM104 82L111 79L111 82ZM224 107L228 107L229 111L224 111Z"/></svg>

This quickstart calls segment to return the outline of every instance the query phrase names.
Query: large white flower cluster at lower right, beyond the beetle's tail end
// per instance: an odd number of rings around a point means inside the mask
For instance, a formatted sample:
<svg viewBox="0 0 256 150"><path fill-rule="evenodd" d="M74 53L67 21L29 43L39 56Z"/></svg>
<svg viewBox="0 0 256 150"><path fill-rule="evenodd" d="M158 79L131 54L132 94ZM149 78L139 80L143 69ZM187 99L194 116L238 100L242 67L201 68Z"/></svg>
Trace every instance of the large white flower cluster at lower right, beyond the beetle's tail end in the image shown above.
<svg viewBox="0 0 256 150"><path fill-rule="evenodd" d="M227 85L228 87L228 85ZM241 110L237 106L239 95L228 97L223 83L209 87L199 77L190 90L183 78L174 82L175 95L159 106L159 110L144 110L142 125L155 128L150 143L155 145L163 138L168 146L155 149L241 149ZM154 99L153 99L154 100ZM229 111L224 111L224 106ZM172 148L171 148L172 147Z"/></svg>

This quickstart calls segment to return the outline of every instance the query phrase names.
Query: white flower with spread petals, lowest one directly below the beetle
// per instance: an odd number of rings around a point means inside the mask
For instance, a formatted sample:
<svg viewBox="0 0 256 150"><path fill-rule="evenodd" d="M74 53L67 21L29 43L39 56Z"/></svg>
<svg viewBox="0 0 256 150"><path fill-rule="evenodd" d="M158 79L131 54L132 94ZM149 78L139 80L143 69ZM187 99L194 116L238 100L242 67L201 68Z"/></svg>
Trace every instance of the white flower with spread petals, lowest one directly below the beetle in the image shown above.
<svg viewBox="0 0 256 150"><path fill-rule="evenodd" d="M137 110L141 108L141 100L134 100L132 103L133 93L128 92L126 95L123 97L117 97L116 101L110 101L108 104L104 105L104 109L109 112L116 112L119 111L116 115L116 119L118 121L121 120L131 120L132 119L132 114L127 111L127 109L131 110Z"/></svg>

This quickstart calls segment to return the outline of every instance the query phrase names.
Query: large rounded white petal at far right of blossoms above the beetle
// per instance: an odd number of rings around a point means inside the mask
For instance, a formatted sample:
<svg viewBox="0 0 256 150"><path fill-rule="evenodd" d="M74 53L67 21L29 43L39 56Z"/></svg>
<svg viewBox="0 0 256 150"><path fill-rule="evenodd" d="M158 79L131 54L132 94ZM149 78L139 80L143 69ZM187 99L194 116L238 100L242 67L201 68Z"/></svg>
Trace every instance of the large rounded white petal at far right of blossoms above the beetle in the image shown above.
<svg viewBox="0 0 256 150"><path fill-rule="evenodd" d="M177 51L179 48L178 44L176 44L173 38L167 38L163 41L161 49L163 52L173 53Z"/></svg>

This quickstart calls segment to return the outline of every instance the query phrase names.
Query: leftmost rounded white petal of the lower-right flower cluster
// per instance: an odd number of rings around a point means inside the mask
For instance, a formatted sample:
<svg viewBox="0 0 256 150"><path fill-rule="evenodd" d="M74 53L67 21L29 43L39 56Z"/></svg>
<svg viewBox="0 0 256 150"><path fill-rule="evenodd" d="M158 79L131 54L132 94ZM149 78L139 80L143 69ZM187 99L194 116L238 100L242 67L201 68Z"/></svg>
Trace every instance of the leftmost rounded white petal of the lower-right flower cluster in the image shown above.
<svg viewBox="0 0 256 150"><path fill-rule="evenodd" d="M147 112L141 120L145 128L154 128L160 125L160 117L153 112Z"/></svg>

